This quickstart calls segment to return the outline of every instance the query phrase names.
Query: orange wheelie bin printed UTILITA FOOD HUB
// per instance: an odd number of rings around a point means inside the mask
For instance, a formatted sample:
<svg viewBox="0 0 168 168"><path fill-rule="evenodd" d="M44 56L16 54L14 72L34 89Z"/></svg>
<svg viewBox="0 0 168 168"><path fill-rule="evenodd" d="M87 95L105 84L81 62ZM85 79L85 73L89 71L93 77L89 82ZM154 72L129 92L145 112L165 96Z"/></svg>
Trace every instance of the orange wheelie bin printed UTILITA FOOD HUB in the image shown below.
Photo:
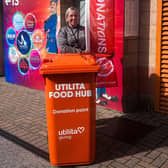
<svg viewBox="0 0 168 168"><path fill-rule="evenodd" d="M40 73L45 80L50 163L92 163L99 66L90 54L48 54L46 58Z"/></svg>

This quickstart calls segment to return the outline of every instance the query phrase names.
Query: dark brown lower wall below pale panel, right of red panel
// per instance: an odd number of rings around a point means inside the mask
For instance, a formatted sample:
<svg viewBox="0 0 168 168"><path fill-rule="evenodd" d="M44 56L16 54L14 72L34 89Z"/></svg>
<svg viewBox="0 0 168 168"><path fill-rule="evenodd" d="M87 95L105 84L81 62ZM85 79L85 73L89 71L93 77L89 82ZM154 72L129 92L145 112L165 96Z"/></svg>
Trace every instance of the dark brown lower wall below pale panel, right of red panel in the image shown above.
<svg viewBox="0 0 168 168"><path fill-rule="evenodd" d="M123 106L124 111L135 110L138 103L138 38L124 37Z"/></svg>

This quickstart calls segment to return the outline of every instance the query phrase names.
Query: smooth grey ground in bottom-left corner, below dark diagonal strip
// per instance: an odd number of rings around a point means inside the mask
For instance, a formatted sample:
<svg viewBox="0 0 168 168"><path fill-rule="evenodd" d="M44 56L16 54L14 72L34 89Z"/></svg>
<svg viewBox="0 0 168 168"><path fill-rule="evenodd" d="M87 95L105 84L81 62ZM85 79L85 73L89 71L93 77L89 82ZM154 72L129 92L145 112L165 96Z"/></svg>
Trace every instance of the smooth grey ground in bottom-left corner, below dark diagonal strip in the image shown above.
<svg viewBox="0 0 168 168"><path fill-rule="evenodd" d="M1 168L50 168L50 163L0 136Z"/></svg>

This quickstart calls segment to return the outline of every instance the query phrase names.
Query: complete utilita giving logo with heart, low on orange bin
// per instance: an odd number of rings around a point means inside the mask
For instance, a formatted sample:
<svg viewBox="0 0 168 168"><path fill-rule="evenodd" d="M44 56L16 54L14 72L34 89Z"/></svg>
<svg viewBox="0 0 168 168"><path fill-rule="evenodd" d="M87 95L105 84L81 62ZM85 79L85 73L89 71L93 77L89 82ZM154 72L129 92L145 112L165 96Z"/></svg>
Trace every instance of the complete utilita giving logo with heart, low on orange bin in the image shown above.
<svg viewBox="0 0 168 168"><path fill-rule="evenodd" d="M79 126L75 129L62 129L58 131L58 139L63 140L63 139L72 139L72 135L81 135L85 132L85 127Z"/></svg>

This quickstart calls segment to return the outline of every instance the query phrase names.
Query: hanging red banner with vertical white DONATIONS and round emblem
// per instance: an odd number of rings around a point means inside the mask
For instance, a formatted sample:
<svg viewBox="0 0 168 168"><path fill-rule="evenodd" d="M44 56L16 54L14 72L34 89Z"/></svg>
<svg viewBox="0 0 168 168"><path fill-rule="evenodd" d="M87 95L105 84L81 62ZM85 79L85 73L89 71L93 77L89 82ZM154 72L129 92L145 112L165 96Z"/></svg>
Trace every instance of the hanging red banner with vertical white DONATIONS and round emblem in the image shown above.
<svg viewBox="0 0 168 168"><path fill-rule="evenodd" d="M90 1L90 50L96 53L97 63L101 67L97 75L97 87L117 86L113 62L114 23L114 0Z"/></svg>

